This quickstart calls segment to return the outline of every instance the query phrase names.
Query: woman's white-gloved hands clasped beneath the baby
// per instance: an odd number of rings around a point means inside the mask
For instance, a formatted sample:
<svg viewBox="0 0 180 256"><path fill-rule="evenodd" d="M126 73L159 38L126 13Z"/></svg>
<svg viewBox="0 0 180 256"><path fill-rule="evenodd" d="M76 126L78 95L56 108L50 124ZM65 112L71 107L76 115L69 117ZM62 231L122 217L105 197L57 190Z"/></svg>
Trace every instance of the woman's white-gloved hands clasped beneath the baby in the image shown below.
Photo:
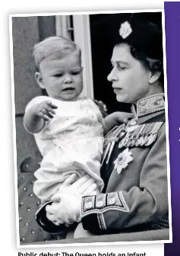
<svg viewBox="0 0 180 256"><path fill-rule="evenodd" d="M93 178L86 175L74 182L75 177L76 175L72 174L67 178L58 193L52 197L55 203L46 206L46 217L55 225L69 226L73 222L80 222L82 197L96 194Z"/></svg>

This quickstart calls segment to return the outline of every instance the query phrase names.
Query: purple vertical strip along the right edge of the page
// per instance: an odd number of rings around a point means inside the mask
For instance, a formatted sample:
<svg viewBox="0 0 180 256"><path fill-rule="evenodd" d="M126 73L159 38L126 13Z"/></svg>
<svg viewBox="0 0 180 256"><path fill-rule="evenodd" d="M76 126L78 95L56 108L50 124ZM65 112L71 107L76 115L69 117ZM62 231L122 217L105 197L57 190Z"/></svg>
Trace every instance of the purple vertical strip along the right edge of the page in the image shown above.
<svg viewBox="0 0 180 256"><path fill-rule="evenodd" d="M169 104L169 151L172 188L172 244L165 256L180 255L180 2L165 2Z"/></svg>

